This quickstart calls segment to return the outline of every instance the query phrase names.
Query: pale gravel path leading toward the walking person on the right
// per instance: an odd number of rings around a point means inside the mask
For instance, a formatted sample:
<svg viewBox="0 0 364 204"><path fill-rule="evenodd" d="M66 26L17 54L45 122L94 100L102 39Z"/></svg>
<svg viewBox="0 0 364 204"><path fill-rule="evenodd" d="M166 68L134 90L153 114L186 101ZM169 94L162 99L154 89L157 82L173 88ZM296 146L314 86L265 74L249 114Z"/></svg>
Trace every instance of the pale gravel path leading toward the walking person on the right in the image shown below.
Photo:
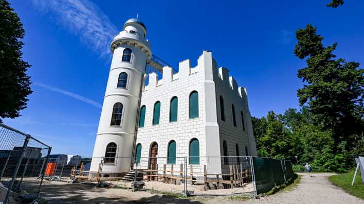
<svg viewBox="0 0 364 204"><path fill-rule="evenodd" d="M317 173L312 174L312 177L306 173L300 175L301 182L292 191L277 193L264 199L250 199L247 203L364 203L364 200L332 185L327 177L334 174Z"/></svg>

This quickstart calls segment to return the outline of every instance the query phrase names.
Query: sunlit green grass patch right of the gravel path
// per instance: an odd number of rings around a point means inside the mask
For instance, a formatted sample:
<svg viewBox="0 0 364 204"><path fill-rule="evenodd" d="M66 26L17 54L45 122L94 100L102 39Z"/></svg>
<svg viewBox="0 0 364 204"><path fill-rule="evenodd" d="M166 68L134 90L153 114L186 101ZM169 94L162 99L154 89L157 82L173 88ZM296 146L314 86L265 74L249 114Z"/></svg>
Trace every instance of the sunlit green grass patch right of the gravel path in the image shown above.
<svg viewBox="0 0 364 204"><path fill-rule="evenodd" d="M364 199L364 183L361 181L360 172L356 174L354 185L351 182L354 177L355 170L350 170L348 173L333 175L329 177L329 180L337 187L342 188L349 194L356 196L358 198Z"/></svg>

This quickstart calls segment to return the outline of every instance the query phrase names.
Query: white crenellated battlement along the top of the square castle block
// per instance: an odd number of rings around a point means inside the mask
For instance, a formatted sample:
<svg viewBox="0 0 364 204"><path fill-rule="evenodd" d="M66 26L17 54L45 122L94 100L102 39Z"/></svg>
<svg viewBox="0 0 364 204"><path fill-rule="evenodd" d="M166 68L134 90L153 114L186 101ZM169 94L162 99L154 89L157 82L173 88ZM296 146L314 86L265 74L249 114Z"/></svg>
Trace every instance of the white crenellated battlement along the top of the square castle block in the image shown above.
<svg viewBox="0 0 364 204"><path fill-rule="evenodd" d="M208 64L206 62L211 62ZM173 68L169 66L165 66L162 69L162 73L160 73L161 77L158 79L158 74L152 72L149 74L149 82L148 85L144 86L144 91L154 89L159 86L164 86L169 83L172 83L174 80L178 80L181 78L189 77L192 74L202 75L205 80L211 80L212 78L208 77L208 73L217 74L223 81L224 86L229 86L229 88L239 95L241 98L246 99L246 89L243 87L238 87L238 83L233 76L229 76L229 70L225 67L220 67L217 69L217 63L214 58L211 56L210 51L205 51L201 56L197 59L197 65L195 67L191 67L190 59L185 59L178 64L178 72L173 73ZM148 77L148 76L147 76ZM202 81L203 82L203 81Z"/></svg>

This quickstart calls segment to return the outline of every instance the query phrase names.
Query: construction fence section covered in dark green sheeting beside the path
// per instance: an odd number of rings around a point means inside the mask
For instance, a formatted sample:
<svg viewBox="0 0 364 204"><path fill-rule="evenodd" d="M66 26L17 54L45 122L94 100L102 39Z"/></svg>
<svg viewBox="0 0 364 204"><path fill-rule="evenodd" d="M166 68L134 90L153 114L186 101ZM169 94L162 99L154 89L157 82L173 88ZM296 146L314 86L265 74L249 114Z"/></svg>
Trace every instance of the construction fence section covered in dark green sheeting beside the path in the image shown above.
<svg viewBox="0 0 364 204"><path fill-rule="evenodd" d="M290 161L262 157L252 157L252 160L257 194L269 192L294 176Z"/></svg>

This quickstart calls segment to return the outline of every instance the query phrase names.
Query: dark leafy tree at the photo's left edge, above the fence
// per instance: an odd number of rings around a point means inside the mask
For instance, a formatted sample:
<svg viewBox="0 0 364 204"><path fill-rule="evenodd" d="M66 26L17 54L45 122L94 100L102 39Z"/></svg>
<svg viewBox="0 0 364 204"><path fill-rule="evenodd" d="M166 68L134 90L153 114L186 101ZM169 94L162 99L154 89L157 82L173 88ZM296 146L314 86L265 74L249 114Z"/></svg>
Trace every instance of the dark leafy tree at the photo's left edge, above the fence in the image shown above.
<svg viewBox="0 0 364 204"><path fill-rule="evenodd" d="M18 117L26 108L30 90L30 65L22 59L24 37L20 18L5 0L0 0L0 117ZM0 122L1 122L0 118Z"/></svg>

